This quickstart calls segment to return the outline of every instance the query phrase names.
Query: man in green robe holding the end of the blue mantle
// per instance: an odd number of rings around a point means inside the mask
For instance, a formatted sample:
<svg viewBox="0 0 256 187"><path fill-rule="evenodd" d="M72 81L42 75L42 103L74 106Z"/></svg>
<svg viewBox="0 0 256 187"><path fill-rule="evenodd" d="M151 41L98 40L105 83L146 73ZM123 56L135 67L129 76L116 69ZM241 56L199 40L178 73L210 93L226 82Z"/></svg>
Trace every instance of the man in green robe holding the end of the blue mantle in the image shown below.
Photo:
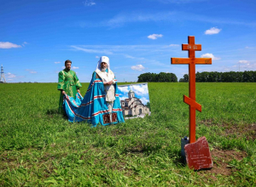
<svg viewBox="0 0 256 187"><path fill-rule="evenodd" d="M58 90L61 90L59 112L63 112L63 94L67 94L75 99L76 94L78 92L80 94L79 88L82 87L76 72L71 70L71 64L72 61L67 59L65 61L66 68L59 72Z"/></svg>

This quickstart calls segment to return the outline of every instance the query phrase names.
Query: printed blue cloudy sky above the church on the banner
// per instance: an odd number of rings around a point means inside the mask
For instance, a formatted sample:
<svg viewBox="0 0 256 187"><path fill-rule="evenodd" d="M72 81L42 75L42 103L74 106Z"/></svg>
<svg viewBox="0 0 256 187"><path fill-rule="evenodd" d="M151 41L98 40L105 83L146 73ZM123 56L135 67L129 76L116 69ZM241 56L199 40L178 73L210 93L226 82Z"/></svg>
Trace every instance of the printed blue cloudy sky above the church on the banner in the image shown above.
<svg viewBox="0 0 256 187"><path fill-rule="evenodd" d="M119 86L118 89L120 101L128 99L128 93L130 90L132 90L135 97L137 99L141 99L144 105L147 105L149 102L148 83L126 84Z"/></svg>

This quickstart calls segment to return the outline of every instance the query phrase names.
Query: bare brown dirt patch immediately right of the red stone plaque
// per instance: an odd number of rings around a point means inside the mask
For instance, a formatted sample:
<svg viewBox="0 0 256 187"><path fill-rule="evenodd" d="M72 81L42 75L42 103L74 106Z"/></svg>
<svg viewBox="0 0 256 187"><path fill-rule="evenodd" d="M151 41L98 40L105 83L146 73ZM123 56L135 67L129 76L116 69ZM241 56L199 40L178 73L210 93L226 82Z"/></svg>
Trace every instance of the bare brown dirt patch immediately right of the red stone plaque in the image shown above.
<svg viewBox="0 0 256 187"><path fill-rule="evenodd" d="M247 157L246 151L236 151L236 150L218 150L214 149L211 151L213 167L212 169L201 170L198 172L199 175L212 178L216 180L218 174L230 176L236 169L229 167L229 161L236 159L241 161L242 158Z"/></svg>

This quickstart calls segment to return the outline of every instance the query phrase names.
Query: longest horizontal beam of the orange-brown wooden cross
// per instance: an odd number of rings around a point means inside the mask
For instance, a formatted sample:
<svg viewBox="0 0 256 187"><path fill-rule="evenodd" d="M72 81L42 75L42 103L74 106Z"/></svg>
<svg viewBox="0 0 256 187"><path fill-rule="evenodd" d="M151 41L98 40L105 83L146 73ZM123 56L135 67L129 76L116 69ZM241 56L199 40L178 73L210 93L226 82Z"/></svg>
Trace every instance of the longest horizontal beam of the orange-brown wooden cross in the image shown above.
<svg viewBox="0 0 256 187"><path fill-rule="evenodd" d="M171 58L172 65L212 65L211 58Z"/></svg>

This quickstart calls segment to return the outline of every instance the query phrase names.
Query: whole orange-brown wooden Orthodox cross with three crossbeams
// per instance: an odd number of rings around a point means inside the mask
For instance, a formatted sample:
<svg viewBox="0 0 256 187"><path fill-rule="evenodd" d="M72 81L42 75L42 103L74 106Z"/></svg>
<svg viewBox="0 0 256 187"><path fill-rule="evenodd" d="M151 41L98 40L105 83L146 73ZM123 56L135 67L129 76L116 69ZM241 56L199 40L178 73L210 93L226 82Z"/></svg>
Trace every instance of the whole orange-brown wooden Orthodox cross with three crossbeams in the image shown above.
<svg viewBox="0 0 256 187"><path fill-rule="evenodd" d="M201 44L195 44L195 37L188 37L188 44L182 49L189 51L188 58L171 58L172 64L189 65L189 97L183 95L184 103L189 105L189 143L195 142L195 110L201 111L201 105L195 102L195 65L212 65L211 58L195 58L195 51L201 51Z"/></svg>

